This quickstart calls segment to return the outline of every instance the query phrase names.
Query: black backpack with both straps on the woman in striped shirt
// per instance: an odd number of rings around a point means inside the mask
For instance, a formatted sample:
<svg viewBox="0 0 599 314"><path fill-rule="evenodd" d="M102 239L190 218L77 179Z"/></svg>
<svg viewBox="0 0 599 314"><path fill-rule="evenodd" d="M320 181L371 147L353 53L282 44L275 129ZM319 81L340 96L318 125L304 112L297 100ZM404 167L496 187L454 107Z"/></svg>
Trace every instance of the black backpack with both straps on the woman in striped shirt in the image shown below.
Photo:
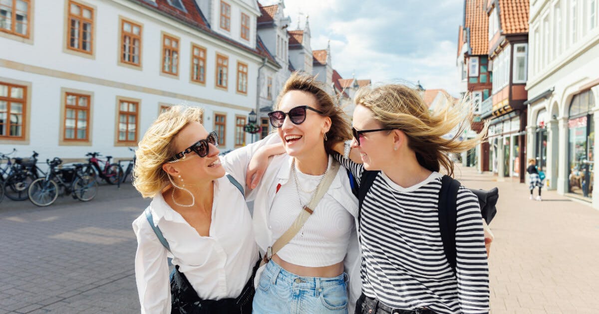
<svg viewBox="0 0 599 314"><path fill-rule="evenodd" d="M355 178L350 174L352 181L352 191L358 197L358 224L362 215L362 202L366 198L366 194L372 187L374 180L379 175L379 170L364 170L360 180L359 188L356 187ZM455 231L457 227L457 199L458 190L460 187L458 180L444 175L441 179L441 191L439 191L439 229L441 231L441 240L443 240L443 250L447 257L447 261L455 271L456 267L456 243ZM491 220L497 214L497 200L499 199L498 188L492 188L489 191L470 189L479 199L480 214L485 219L486 223L491 223ZM357 194L356 194L357 192ZM358 226L359 228L359 226Z"/></svg>

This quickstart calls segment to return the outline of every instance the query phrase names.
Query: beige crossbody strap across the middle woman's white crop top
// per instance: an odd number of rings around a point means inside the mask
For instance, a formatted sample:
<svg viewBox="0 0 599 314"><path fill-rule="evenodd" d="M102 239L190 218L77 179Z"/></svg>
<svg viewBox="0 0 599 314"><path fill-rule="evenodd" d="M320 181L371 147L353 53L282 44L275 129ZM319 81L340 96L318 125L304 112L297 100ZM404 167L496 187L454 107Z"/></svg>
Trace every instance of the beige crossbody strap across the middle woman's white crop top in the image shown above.
<svg viewBox="0 0 599 314"><path fill-rule="evenodd" d="M304 206L304 210L299 213L297 218L295 218L295 221L293 224L291 224L291 227L289 227L289 229L274 242L273 246L268 247L266 254L264 254L264 258L260 263L261 266L268 263L274 254L277 254L277 252L279 252L283 246L285 246L287 243L289 243L289 241L291 241L291 239L295 237L295 234L298 234L301 227L303 227L305 222L308 220L308 217L310 217L314 212L314 208L316 208L316 205L318 205L320 199L322 199L322 197L325 196L326 191L329 190L333 179L335 176L337 176L339 166L340 164L337 162L337 160L332 160L331 169L326 172L322 182L320 182L316 188L316 192L314 193L314 196L312 196L310 203Z"/></svg>

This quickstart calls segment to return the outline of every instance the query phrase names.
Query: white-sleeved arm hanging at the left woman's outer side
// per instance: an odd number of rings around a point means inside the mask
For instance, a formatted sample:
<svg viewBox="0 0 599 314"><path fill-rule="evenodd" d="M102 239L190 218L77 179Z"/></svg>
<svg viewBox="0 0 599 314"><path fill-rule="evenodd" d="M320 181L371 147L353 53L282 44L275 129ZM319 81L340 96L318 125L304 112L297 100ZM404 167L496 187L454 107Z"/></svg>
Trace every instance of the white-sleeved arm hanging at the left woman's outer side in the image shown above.
<svg viewBox="0 0 599 314"><path fill-rule="evenodd" d="M133 222L133 231L137 237L135 282L141 313L171 313L167 249L158 242L144 215Z"/></svg>

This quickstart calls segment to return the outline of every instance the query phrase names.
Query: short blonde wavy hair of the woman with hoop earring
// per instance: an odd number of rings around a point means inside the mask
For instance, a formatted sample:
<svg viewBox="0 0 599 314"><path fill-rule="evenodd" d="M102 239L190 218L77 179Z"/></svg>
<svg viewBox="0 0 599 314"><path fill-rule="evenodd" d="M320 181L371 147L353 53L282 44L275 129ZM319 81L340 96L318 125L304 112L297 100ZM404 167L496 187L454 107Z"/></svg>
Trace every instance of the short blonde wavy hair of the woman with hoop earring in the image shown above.
<svg viewBox="0 0 599 314"><path fill-rule="evenodd" d="M202 123L203 117L204 109L177 105L162 112L152 123L135 151L137 160L133 168L133 185L141 196L154 197L170 184L162 164L177 153L174 137L188 123Z"/></svg>

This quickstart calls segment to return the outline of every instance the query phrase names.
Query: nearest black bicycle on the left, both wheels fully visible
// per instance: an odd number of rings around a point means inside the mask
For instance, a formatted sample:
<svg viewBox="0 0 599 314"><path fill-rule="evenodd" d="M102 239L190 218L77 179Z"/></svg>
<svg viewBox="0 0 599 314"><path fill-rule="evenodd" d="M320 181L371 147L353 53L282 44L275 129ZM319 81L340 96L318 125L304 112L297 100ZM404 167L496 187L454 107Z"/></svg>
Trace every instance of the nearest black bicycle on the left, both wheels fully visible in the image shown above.
<svg viewBox="0 0 599 314"><path fill-rule="evenodd" d="M58 198L60 188L63 188L65 196L72 193L73 199L83 202L92 200L98 194L98 182L95 178L82 175L84 164L73 164L72 167L56 169L62 164L60 158L55 157L52 161L46 160L50 166L44 178L38 178L31 182L28 188L28 197L37 206L52 205Z"/></svg>

